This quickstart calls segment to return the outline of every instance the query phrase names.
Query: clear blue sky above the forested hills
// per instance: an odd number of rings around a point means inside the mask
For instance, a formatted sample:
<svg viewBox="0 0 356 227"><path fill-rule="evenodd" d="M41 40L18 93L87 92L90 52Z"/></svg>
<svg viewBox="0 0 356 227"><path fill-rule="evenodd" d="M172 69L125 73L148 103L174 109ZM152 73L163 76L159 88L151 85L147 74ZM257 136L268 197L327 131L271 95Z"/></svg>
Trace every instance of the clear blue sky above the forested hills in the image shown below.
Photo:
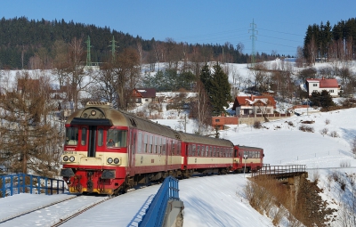
<svg viewBox="0 0 356 227"><path fill-rule="evenodd" d="M308 25L356 17L352 0L3 0L1 17L25 16L28 20L73 20L109 27L143 39L189 44L242 43L252 52L252 21L255 51L295 55L303 46ZM109 41L108 41L109 42Z"/></svg>

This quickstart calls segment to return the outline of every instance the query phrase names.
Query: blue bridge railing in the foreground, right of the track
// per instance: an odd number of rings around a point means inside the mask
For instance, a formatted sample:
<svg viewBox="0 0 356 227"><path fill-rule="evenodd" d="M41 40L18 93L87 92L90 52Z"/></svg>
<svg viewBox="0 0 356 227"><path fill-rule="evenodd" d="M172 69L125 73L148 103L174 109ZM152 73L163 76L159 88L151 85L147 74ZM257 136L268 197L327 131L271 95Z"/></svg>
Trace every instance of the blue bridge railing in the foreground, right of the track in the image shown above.
<svg viewBox="0 0 356 227"><path fill-rule="evenodd" d="M152 199L146 215L142 216L139 226L162 226L166 215L166 207L171 199L179 200L178 180L168 176L156 196Z"/></svg>

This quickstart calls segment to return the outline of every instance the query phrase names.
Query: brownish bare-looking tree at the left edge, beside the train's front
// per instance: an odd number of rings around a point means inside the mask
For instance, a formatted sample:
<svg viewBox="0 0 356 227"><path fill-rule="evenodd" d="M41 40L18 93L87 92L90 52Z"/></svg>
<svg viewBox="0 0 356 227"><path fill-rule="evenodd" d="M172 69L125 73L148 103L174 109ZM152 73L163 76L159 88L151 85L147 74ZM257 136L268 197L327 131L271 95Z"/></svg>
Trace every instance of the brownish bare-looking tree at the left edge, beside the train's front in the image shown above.
<svg viewBox="0 0 356 227"><path fill-rule="evenodd" d="M13 173L58 175L62 137L50 119L55 103L49 91L48 80L24 72L17 90L0 97L0 163Z"/></svg>

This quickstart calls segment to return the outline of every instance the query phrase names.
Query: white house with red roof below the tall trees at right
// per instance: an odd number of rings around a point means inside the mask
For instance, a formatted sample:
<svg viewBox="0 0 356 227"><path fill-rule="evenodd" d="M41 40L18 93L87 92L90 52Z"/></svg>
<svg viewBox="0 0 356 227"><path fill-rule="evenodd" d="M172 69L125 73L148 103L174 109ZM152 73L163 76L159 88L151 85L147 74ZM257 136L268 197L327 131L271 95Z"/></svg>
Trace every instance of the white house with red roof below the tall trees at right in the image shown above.
<svg viewBox="0 0 356 227"><path fill-rule="evenodd" d="M321 93L322 90L327 90L331 96L337 97L340 91L340 86L336 79L326 79L324 77L321 79L306 79L305 86L309 96L312 96L312 92Z"/></svg>

